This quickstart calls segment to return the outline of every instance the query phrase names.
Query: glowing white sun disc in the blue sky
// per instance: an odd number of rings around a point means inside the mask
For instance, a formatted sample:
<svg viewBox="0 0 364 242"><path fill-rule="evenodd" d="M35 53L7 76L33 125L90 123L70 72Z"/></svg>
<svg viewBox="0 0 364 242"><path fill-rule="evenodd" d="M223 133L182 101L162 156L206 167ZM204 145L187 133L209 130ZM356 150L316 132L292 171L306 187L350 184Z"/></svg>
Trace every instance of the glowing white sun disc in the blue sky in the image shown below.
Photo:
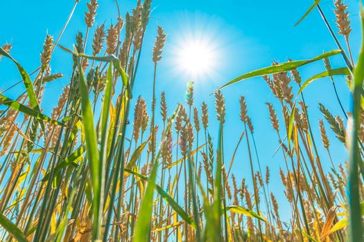
<svg viewBox="0 0 364 242"><path fill-rule="evenodd" d="M177 66L191 77L207 75L216 67L216 50L207 39L190 38L181 43Z"/></svg>

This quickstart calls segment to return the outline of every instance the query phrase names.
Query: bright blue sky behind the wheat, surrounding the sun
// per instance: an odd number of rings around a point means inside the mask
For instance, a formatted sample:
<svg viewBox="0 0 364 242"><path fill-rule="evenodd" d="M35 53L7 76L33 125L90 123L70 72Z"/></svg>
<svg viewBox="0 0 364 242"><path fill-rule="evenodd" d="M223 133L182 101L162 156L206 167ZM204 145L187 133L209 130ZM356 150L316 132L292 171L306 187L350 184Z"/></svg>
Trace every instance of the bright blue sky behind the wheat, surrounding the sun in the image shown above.
<svg viewBox="0 0 364 242"><path fill-rule="evenodd" d="M136 1L120 1L122 15L135 5ZM285 62L291 59L309 59L320 55L322 51L336 49L335 44L317 10L297 27L293 25L300 19L313 1L205 1L205 0L171 0L153 1L149 28L147 30L142 61L135 84L134 96L142 95L151 100L153 77L153 63L151 51L154 44L157 26L164 28L167 36L163 59L157 70L157 93L166 91L169 110L175 108L177 102L184 102L184 89L191 77L173 68L175 49L179 48L180 41L190 35L202 35L218 46L219 61L214 75L199 77L195 82L195 102L200 106L202 100L209 104L211 117L211 132L217 131L217 122L210 93L218 86L225 84L232 78L257 68L269 66L272 59ZM352 18L353 32L350 37L354 59L357 56L360 44L360 23L358 20L358 1L349 3L349 12ZM105 21L108 26L115 23L116 8L112 0L100 0L96 25ZM0 44L10 42L14 45L12 56L31 73L40 64L40 52L46 33L56 37L73 6L73 1L24 1L13 0L6 4L6 11L1 13ZM332 1L322 1L321 6L331 25L333 20ZM69 46L74 42L78 30L85 33L84 11L86 1L78 3L75 15L64 33L60 44ZM114 19L112 21L112 19ZM94 30L94 29L93 29ZM93 33L93 30L91 33ZM343 41L343 38L340 37ZM344 44L344 41L343 41ZM91 44L88 44L90 47ZM333 67L344 65L341 57L331 59ZM64 73L62 80L50 83L46 87L42 107L45 113L51 113L51 107L57 102L62 87L68 82L71 68L69 54L56 48L51 61L53 73ZM8 61L0 62L0 89L14 84L19 80L17 71ZM311 64L300 69L302 79L306 80L312 75L324 71L321 62ZM348 109L349 92L343 77L336 78L338 91L344 106ZM297 88L294 89L297 92ZM24 91L19 85L5 95L17 97ZM223 89L227 97L227 121L225 128L226 160L231 158L232 150L239 140L243 124L239 120L239 97L245 95L248 102L248 112L254 124L254 136L257 142L259 158L262 167L270 166L272 171L272 185L270 189L283 197L281 182L278 176L279 167L284 167L284 160L277 154L272 157L278 147L277 136L270 126L268 111L265 102L273 102L277 111L279 104L275 101L270 89L261 77L247 80L234 86ZM304 92L306 104L309 105L309 115L313 124L314 133L318 134L318 120L322 118L318 110L318 102L322 102L334 114L340 114L336 98L333 95L329 79L319 80L309 86ZM282 124L281 124L282 125ZM327 125L327 129L329 126ZM331 152L334 162L343 162L347 153L340 142L333 139L333 133L328 131L331 138ZM217 137L216 133L211 133ZM320 136L316 137L324 164L329 164L327 153L322 149ZM248 168L248 154L243 143L238 151L232 172L239 178L244 176L250 180Z"/></svg>

